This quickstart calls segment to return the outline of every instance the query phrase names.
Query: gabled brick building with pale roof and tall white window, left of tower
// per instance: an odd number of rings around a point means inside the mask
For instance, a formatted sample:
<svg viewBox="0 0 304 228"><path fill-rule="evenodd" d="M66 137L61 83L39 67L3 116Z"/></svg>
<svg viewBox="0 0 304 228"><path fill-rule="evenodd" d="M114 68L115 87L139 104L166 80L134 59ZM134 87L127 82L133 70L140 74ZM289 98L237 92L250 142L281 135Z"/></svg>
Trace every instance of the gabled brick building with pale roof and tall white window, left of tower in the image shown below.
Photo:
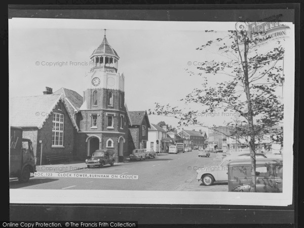
<svg viewBox="0 0 304 228"><path fill-rule="evenodd" d="M42 164L47 163L47 155L73 158L76 153L78 126L62 93L11 98L10 125L21 127L22 137L31 139L37 165L40 165L41 151Z"/></svg>

